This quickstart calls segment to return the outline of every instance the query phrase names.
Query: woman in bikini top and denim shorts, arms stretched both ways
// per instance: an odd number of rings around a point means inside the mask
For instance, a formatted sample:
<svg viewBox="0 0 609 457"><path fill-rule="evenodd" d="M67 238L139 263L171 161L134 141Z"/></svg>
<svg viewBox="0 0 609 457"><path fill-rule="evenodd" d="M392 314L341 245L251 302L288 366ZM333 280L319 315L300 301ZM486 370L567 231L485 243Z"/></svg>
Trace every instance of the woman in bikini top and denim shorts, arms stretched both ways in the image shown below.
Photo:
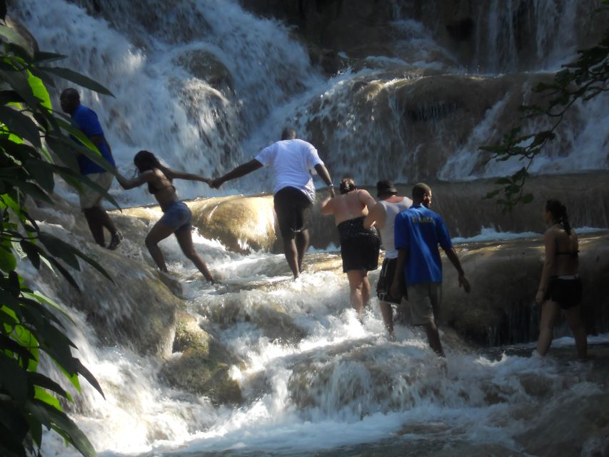
<svg viewBox="0 0 609 457"><path fill-rule="evenodd" d="M118 171L116 172L119 184L123 189L134 189L142 184L148 184L148 190L158 201L163 211L163 217L158 220L146 236L146 247L158 268L167 273L167 266L158 242L167 238L171 233L176 234L182 252L201 271L203 276L215 283L203 258L196 253L193 246L191 233L191 210L178 199L176 188L171 181L173 179L188 179L189 181L201 181L209 184L209 179L195 174L181 173L161 165L156 156L149 151L139 151L134 157L134 164L139 171L134 179L126 179Z"/></svg>

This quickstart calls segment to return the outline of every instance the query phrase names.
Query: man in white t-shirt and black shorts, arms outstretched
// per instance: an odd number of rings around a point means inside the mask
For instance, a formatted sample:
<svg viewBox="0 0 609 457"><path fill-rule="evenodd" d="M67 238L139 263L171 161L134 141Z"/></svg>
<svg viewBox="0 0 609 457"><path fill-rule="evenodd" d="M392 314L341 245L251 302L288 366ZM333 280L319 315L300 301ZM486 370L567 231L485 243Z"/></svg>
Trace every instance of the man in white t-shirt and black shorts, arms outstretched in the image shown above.
<svg viewBox="0 0 609 457"><path fill-rule="evenodd" d="M210 186L218 189L226 181L241 178L263 166L273 169L273 200L283 238L283 251L296 279L300 276L304 253L308 249L305 211L315 201L311 170L317 171L329 186L331 196L334 196L332 179L315 146L296 139L296 130L287 127L281 133L281 141L262 149L251 161L213 179Z"/></svg>

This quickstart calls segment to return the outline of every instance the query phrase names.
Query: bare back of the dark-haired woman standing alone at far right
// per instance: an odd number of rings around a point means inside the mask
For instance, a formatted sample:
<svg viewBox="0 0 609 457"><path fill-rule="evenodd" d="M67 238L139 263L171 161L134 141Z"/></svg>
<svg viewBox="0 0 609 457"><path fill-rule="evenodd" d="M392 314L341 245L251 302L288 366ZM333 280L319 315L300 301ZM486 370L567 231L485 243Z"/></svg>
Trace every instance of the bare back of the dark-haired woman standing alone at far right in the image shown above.
<svg viewBox="0 0 609 457"><path fill-rule="evenodd" d="M570 235L560 225L551 226L543 234L545 256L550 261L551 276L574 275L578 273L578 236L573 229Z"/></svg>

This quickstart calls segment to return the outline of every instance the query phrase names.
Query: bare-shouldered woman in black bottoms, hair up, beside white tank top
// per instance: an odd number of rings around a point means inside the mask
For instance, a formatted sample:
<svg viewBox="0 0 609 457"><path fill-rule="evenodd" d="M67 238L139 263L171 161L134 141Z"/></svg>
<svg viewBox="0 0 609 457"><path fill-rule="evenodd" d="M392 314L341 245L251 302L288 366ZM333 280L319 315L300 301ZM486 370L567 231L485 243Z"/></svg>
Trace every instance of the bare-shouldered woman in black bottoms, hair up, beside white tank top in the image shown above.
<svg viewBox="0 0 609 457"><path fill-rule="evenodd" d="M368 271L378 268L381 240L375 229L366 229L363 220L376 204L368 191L358 189L351 178L341 180L341 195L328 198L321 204L321 214L334 215L334 223L341 237L343 272L347 273L351 289L351 306L361 318L363 306L370 299Z"/></svg>

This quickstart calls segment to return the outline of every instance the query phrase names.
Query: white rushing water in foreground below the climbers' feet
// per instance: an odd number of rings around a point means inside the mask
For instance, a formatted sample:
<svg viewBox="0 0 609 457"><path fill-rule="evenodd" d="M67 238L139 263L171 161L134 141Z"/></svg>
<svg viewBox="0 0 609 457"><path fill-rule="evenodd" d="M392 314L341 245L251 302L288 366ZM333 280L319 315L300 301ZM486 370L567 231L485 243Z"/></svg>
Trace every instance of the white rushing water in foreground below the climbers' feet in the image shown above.
<svg viewBox="0 0 609 457"><path fill-rule="evenodd" d="M480 237L488 236L498 235ZM376 300L357 320L337 253L311 253L294 282L281 255L237 256L203 238L196 246L228 278L222 288L182 263L172 238L162 243L189 312L241 359L231 376L244 401L218 407L169 388L158 381L161 360L101 344L73 312L71 336L106 395L85 385L73 416L101 456L524 455L535 449L530 429L541 433L575 404L588 417L575 424L590 449L583 455L605 446L590 427L599 419L595 403L606 401L609 336L591 338L598 361L580 363L569 337L542 360L530 356L532 344L475 350L448 332L443 366L413 328L397 326L397 341L388 341ZM53 296L51 285L39 288ZM573 426L555 424L561 433ZM43 450L74 454L52 434Z"/></svg>

